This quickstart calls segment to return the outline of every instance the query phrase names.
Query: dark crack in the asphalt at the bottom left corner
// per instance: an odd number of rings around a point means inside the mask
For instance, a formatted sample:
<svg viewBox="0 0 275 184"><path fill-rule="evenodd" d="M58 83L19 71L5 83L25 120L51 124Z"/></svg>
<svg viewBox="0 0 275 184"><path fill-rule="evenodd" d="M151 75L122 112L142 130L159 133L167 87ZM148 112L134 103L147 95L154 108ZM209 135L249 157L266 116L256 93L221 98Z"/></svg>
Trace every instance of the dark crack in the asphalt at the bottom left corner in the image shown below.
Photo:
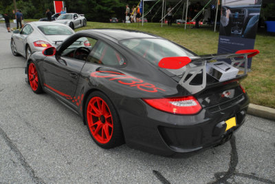
<svg viewBox="0 0 275 184"><path fill-rule="evenodd" d="M3 137L5 143L7 143L8 147L10 147L10 150L12 150L12 152L14 152L14 154L17 156L17 159L20 161L20 163L24 167L25 171L28 172L28 174L32 178L32 181L34 181L34 183L45 183L41 178L35 176L34 170L28 164L28 162L25 161L25 158L24 158L23 154L21 154L20 150L17 148L17 145L12 143L12 141L10 140L8 135L5 134L5 132L3 131L3 129L1 127L0 127L0 136Z"/></svg>

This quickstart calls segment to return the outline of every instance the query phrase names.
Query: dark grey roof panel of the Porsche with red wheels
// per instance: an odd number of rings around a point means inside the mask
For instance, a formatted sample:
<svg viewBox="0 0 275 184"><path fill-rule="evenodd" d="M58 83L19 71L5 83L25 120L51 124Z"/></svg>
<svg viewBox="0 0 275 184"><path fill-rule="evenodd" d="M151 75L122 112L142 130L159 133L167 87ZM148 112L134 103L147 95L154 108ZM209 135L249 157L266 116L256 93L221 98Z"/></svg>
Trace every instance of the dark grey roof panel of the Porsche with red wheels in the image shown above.
<svg viewBox="0 0 275 184"><path fill-rule="evenodd" d="M117 41L124 39L155 39L161 38L154 34L148 34L146 32L139 32L136 30L119 30L119 29L92 29L92 30L83 30L87 34L98 34L102 37L109 39L115 39Z"/></svg>

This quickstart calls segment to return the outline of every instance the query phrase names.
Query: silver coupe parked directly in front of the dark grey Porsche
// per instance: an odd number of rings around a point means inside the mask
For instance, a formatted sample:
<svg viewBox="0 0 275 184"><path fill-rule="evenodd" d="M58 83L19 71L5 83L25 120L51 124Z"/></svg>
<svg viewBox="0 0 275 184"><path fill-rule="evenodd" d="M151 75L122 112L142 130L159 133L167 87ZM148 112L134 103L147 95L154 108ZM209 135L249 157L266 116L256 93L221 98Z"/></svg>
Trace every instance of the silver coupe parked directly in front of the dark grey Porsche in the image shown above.
<svg viewBox="0 0 275 184"><path fill-rule="evenodd" d="M54 22L36 21L25 24L21 31L12 33L10 48L14 56L22 55L27 58L36 51L61 44L74 30L67 25Z"/></svg>

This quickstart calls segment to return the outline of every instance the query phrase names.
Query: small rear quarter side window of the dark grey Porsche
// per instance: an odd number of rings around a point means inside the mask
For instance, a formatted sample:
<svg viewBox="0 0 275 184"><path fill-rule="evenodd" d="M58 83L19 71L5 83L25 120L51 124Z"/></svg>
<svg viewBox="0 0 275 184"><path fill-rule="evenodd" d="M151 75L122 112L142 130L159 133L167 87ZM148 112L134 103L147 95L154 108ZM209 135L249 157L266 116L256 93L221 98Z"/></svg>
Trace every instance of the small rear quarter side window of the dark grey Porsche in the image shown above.
<svg viewBox="0 0 275 184"><path fill-rule="evenodd" d="M110 45L100 41L93 52L87 58L87 62L98 63L101 65L125 65L121 54L111 48Z"/></svg>

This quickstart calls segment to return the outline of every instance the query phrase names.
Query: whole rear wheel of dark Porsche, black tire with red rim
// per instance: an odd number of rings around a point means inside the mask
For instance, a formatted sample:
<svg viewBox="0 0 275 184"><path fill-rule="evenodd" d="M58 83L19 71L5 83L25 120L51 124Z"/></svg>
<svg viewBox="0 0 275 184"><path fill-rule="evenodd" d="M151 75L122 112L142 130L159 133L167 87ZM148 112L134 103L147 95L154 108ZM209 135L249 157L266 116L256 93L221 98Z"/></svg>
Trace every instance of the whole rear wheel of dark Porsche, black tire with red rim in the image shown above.
<svg viewBox="0 0 275 184"><path fill-rule="evenodd" d="M98 105L98 103L100 104ZM96 108L96 111L94 111L94 108ZM84 116L91 138L97 145L104 149L110 149L124 143L118 113L111 100L105 94L102 92L89 94L85 104ZM107 134L109 134L109 137Z"/></svg>

